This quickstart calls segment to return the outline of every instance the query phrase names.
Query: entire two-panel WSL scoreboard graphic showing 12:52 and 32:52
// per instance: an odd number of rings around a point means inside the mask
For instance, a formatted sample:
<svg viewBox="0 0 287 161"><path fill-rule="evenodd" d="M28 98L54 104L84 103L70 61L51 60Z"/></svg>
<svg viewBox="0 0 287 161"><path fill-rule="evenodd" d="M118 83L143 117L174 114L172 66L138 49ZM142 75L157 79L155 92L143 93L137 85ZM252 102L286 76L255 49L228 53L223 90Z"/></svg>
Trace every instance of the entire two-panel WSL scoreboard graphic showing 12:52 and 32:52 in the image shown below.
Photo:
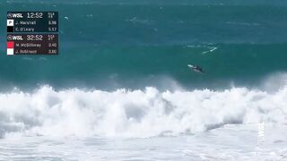
<svg viewBox="0 0 287 161"><path fill-rule="evenodd" d="M7 12L7 55L57 54L57 12Z"/></svg>

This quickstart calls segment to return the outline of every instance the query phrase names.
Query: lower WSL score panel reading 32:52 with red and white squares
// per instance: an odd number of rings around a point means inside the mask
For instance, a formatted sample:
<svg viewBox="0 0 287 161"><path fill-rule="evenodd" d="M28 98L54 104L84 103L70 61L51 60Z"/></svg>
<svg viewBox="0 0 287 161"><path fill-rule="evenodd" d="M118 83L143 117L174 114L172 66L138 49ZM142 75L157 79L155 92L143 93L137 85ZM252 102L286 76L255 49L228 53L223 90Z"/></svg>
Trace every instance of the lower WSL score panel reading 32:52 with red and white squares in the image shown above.
<svg viewBox="0 0 287 161"><path fill-rule="evenodd" d="M57 34L13 34L7 36L7 55L57 55Z"/></svg>

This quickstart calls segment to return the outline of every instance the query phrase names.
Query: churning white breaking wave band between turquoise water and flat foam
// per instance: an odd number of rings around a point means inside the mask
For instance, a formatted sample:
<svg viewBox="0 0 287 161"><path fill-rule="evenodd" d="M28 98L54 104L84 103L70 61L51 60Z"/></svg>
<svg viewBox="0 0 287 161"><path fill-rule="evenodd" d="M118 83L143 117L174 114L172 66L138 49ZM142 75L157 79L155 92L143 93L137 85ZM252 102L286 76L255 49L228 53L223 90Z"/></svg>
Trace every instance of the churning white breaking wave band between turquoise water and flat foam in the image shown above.
<svg viewBox="0 0 287 161"><path fill-rule="evenodd" d="M287 123L287 88L268 93L81 89L0 94L0 134L145 138L208 131L233 123Z"/></svg>

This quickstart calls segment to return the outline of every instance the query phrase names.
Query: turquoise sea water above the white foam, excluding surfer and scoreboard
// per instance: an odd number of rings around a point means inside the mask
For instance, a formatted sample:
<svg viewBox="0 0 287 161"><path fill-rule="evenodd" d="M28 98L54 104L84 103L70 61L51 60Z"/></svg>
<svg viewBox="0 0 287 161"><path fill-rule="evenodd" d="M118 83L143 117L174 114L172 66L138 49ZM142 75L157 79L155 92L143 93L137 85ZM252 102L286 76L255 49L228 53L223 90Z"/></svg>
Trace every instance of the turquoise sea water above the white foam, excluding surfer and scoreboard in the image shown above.
<svg viewBox="0 0 287 161"><path fill-rule="evenodd" d="M13 10L58 11L60 54L6 56L2 45L3 88L257 87L287 70L282 1L36 2L0 3L1 20Z"/></svg>

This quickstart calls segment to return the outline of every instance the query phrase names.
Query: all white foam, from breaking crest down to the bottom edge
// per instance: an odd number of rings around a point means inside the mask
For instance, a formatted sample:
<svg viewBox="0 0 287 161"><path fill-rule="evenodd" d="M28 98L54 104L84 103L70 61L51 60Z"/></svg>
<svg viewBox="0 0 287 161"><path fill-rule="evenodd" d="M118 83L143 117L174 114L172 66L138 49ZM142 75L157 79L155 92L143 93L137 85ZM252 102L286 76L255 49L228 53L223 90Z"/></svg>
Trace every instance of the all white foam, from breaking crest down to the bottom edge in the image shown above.
<svg viewBox="0 0 287 161"><path fill-rule="evenodd" d="M0 160L287 160L286 97L285 85L14 89L0 94Z"/></svg>

